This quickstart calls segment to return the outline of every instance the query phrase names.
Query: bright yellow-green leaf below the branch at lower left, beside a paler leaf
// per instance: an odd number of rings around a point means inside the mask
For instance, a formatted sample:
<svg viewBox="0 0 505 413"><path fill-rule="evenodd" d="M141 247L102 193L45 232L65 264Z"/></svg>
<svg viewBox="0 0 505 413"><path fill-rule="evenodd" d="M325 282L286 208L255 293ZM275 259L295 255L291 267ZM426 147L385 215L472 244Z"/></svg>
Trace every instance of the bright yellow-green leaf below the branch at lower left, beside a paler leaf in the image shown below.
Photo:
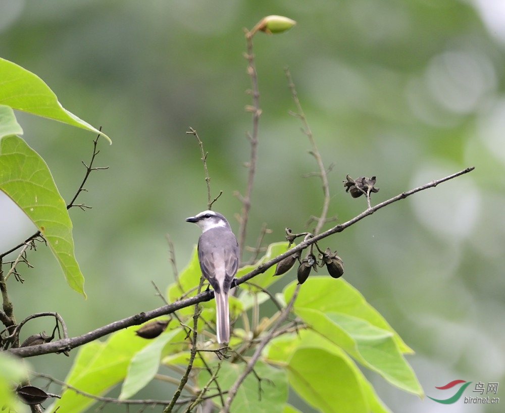
<svg viewBox="0 0 505 413"><path fill-rule="evenodd" d="M148 341L137 337L133 329L118 331L106 342L92 341L83 345L77 354L65 383L94 395L103 395L126 377L132 357ZM85 411L96 400L64 390L62 398L49 411L78 413Z"/></svg>

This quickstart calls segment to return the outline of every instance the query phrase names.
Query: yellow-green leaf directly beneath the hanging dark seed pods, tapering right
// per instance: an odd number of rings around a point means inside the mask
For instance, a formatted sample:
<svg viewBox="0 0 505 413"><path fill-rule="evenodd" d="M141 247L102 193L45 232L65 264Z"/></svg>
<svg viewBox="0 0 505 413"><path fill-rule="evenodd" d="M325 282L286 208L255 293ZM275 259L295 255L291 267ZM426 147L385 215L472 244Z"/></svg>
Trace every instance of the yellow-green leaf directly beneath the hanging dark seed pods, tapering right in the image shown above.
<svg viewBox="0 0 505 413"><path fill-rule="evenodd" d="M289 302L296 282L284 289L284 299ZM342 278L329 276L310 277L302 286L294 303L294 308L313 308L322 313L334 312L348 314L368 321L371 325L393 333L393 338L402 353L413 353L379 312L372 307L363 295Z"/></svg>

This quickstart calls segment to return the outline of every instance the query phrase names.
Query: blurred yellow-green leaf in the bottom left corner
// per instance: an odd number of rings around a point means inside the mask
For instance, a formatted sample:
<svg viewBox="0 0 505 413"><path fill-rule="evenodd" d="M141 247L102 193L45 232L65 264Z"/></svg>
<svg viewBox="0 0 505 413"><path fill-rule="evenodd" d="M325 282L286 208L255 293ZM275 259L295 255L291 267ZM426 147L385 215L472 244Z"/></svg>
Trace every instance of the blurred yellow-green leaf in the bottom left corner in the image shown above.
<svg viewBox="0 0 505 413"><path fill-rule="evenodd" d="M13 392L13 383L20 383L27 378L28 372L23 360L0 352L0 410L6 413L9 410L17 413L29 411Z"/></svg>

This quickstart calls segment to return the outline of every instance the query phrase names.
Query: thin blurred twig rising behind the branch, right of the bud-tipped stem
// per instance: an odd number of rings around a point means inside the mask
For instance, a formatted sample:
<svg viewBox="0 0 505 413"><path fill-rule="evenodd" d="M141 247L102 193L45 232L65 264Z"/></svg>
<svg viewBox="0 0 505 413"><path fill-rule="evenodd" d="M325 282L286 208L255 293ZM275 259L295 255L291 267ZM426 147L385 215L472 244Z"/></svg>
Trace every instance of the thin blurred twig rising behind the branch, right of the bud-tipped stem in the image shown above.
<svg viewBox="0 0 505 413"><path fill-rule="evenodd" d="M300 101L298 99L298 94L296 93L296 88L293 83L293 79L291 78L291 73L289 72L289 69L286 67L284 69L284 72L286 73L286 78L288 81L288 86L289 89L291 90L291 97L293 98L294 105L296 106L296 113L294 116L299 118L304 125L304 128L302 131L307 135L309 138L309 142L311 143L312 150L310 153L312 156L316 159L316 162L319 167L319 173L317 176L321 178L322 186L323 186L323 193L324 193L324 200L323 200L323 209L321 211L321 216L317 220L317 225L316 228L314 229L314 235L317 235L319 231L321 231L321 228L323 227L324 223L326 222L326 215L328 214L328 208L330 205L330 187L328 185L328 176L326 174L326 169L323 165L323 160L321 159L321 154L319 153L319 150L316 145L316 141L314 140L314 136L312 135L311 128L309 126L309 122L307 121L307 118L305 116L304 110L301 108ZM328 170L331 170L333 166L330 166Z"/></svg>

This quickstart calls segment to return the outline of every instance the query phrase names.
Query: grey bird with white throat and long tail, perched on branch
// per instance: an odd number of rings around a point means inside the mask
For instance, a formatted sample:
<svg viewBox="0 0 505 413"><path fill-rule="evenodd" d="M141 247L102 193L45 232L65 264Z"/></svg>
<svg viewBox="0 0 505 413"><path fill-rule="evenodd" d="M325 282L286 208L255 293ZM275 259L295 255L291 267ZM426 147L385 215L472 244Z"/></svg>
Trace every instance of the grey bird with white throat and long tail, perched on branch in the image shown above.
<svg viewBox="0 0 505 413"><path fill-rule="evenodd" d="M230 341L228 294L238 269L238 243L230 224L215 211L203 211L186 218L201 228L198 261L203 276L216 297L216 331L219 343Z"/></svg>

